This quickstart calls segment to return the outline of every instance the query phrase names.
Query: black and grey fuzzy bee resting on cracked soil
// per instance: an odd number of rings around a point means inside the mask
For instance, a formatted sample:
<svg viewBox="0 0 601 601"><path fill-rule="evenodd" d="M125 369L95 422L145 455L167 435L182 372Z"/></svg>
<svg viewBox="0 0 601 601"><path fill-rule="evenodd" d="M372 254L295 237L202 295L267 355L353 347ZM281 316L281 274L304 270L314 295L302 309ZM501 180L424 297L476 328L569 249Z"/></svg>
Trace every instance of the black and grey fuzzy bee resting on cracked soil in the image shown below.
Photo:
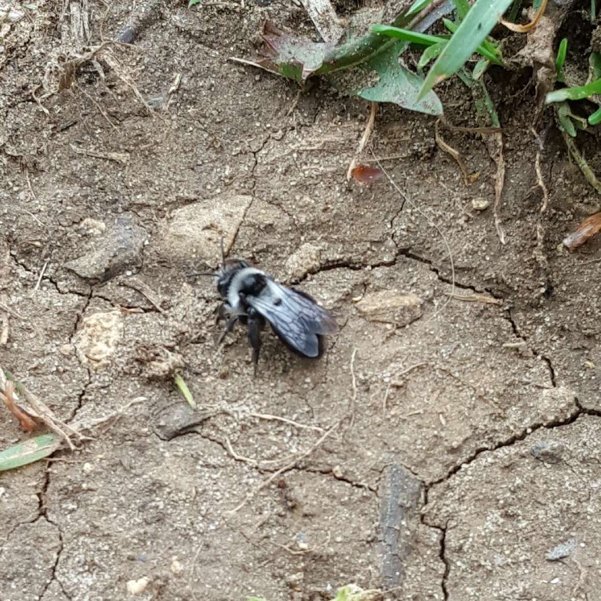
<svg viewBox="0 0 601 601"><path fill-rule="evenodd" d="M261 350L261 330L269 322L273 332L297 355L317 359L325 351L325 335L335 334L338 325L330 311L320 307L313 297L288 288L267 273L240 259L226 259L221 240L221 268L210 275L216 279L222 304L218 321L227 320L219 344L237 322L248 329L252 362L257 369Z"/></svg>

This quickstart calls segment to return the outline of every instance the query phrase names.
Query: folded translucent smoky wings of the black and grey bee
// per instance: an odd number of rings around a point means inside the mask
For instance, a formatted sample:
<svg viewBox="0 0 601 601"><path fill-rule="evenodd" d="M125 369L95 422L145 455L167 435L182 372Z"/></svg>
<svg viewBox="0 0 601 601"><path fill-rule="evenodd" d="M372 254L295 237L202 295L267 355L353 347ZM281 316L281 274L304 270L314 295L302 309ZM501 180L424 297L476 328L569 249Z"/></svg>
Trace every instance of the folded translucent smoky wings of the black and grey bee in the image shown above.
<svg viewBox="0 0 601 601"><path fill-rule="evenodd" d="M318 335L338 331L334 316L308 294L272 279L267 279L260 294L247 296L246 302L271 323L284 343L307 357L319 355Z"/></svg>

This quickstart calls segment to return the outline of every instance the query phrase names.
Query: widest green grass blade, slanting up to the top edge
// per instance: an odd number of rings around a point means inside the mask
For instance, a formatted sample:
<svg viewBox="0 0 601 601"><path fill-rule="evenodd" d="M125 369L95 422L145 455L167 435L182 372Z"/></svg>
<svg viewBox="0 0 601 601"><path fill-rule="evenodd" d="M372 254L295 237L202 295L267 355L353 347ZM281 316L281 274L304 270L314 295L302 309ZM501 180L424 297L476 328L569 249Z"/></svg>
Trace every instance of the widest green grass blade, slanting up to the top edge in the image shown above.
<svg viewBox="0 0 601 601"><path fill-rule="evenodd" d="M486 36L498 23L499 17L507 10L511 2L512 0L476 0L430 69L426 81L419 91L418 99L426 96L443 79L459 71L474 50L486 40Z"/></svg>

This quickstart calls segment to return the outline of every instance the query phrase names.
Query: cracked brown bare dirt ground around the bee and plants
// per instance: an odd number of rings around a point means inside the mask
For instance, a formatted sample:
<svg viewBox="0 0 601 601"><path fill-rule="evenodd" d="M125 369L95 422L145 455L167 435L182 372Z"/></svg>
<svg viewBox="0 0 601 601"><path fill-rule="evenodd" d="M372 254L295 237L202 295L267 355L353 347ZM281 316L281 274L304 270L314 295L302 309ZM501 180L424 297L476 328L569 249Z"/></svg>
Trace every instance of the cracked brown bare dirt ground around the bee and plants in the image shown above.
<svg viewBox="0 0 601 601"><path fill-rule="evenodd" d="M478 174L466 186L432 118L378 108L374 152L448 238L447 303L435 228L385 182L347 185L367 103L227 61L268 16L310 30L302 8L30 6L0 55L0 365L65 421L145 400L81 450L2 472L0 599L123 599L142 578L153 600L315 601L350 582L598 599L600 243L558 248L598 201L551 128L540 212L528 74L490 82L505 245L472 208L494 200L495 144L445 131ZM59 79L132 16L132 46ZM447 117L474 126L460 85L441 86ZM216 291L186 273L217 266L220 235L334 311L325 358L265 334L253 377L241 328L218 351ZM183 356L196 410L148 378L160 347ZM0 448L27 436L0 412Z"/></svg>

